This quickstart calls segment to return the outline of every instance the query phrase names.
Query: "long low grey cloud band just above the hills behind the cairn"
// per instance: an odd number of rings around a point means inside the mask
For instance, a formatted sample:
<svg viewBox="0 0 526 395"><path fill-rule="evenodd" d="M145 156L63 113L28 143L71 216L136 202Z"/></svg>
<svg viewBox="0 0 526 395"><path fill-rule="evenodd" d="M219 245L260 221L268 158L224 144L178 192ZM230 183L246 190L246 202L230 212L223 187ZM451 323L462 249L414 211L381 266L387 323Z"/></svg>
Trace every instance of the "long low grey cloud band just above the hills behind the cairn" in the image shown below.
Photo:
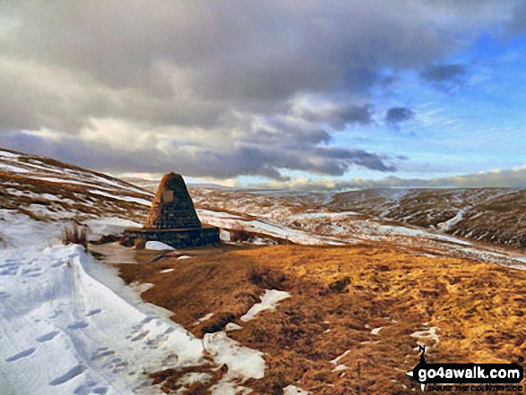
<svg viewBox="0 0 526 395"><path fill-rule="evenodd" d="M166 173L175 170L186 176L212 176L225 179L234 176L266 176L284 181L282 169L304 170L320 175L342 176L356 165L379 171L394 171L386 158L365 150L339 147L297 146L290 142L274 146L237 143L223 149L210 145L184 145L160 150L144 144L133 150L108 150L104 142L86 142L65 135L59 142L28 133L2 133L0 146L12 150L30 151L82 167L96 170L111 168L114 172L130 171ZM154 158L155 160L152 160Z"/></svg>

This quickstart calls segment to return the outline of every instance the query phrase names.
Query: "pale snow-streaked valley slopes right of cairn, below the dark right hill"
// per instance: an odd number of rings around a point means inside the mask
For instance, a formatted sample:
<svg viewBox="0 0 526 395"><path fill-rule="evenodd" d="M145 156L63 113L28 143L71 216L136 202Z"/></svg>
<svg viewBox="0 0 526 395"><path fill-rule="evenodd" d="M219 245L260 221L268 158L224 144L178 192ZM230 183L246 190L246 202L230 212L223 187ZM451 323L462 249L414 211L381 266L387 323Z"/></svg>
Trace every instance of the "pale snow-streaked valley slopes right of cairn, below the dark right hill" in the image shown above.
<svg viewBox="0 0 526 395"><path fill-rule="evenodd" d="M340 195L333 198L329 193L261 193L211 188L192 188L191 193L200 218L221 228L243 228L301 245L389 243L426 253L447 254L521 269L526 267L526 255L522 251L481 244L470 238L449 235L442 228L418 227L410 221L394 221L381 216L386 205L392 206L392 210L395 207L401 210L397 200L418 191L371 191L375 199L369 204L375 207L374 214L368 213L364 207L367 191L356 192L362 196L361 206L347 199L342 201ZM435 193L440 195L442 192ZM385 201L388 203L381 203ZM404 207L413 206L408 201L404 202ZM436 210L441 210L439 205ZM461 218L459 211L452 211L450 221L447 222L449 217L446 217L444 225L453 229L455 220ZM496 219L504 220L503 213L496 214ZM513 230L499 228L497 224L493 226L513 234ZM524 236L523 233L513 235Z"/></svg>

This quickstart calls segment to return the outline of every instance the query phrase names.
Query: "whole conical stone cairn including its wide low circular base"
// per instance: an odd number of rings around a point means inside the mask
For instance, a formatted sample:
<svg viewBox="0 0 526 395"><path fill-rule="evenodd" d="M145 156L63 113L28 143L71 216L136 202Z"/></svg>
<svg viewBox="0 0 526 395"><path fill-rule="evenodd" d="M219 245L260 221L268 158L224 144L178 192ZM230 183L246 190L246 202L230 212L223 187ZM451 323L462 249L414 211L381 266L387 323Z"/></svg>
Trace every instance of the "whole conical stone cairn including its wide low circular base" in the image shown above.
<svg viewBox="0 0 526 395"><path fill-rule="evenodd" d="M174 248L220 243L219 228L205 226L197 217L194 202L181 175L162 177L143 228L125 229L125 245L155 240Z"/></svg>

